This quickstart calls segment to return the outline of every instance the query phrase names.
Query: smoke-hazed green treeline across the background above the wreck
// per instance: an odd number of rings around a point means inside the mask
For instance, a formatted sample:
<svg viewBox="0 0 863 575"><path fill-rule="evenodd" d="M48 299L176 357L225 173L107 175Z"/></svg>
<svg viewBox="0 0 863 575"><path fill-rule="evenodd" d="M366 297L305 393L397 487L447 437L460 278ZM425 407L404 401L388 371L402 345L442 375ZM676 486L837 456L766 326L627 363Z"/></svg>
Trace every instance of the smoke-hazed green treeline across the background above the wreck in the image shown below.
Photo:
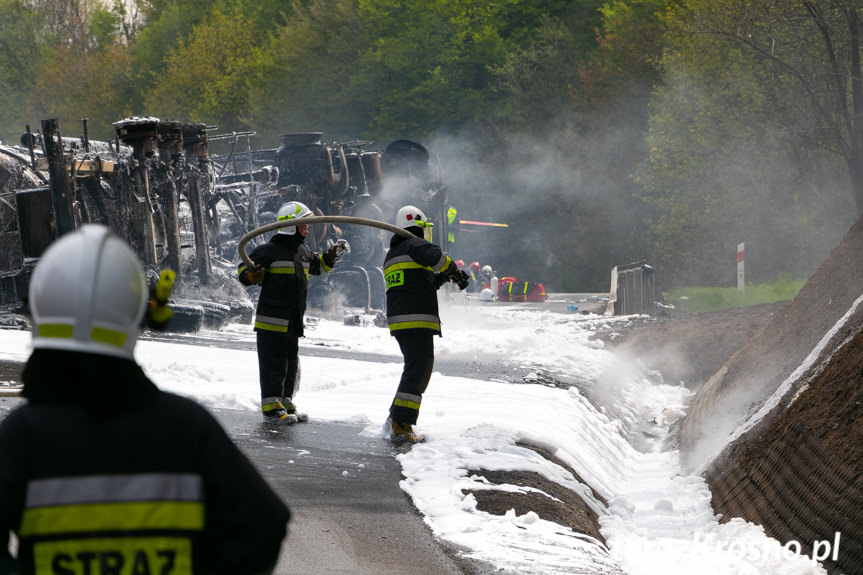
<svg viewBox="0 0 863 575"><path fill-rule="evenodd" d="M0 0L0 138L127 116L440 157L454 256L556 291L807 277L863 209L863 3Z"/></svg>

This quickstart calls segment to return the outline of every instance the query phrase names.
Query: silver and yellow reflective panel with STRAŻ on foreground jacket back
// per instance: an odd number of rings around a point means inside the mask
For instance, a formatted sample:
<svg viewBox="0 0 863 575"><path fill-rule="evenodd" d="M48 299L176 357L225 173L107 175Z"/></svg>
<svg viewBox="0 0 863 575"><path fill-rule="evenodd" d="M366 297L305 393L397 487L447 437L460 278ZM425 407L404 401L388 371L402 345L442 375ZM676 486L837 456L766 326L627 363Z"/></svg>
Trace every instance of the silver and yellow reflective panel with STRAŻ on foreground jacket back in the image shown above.
<svg viewBox="0 0 863 575"><path fill-rule="evenodd" d="M203 529L200 475L91 475L29 481L19 536L37 573L190 575Z"/></svg>

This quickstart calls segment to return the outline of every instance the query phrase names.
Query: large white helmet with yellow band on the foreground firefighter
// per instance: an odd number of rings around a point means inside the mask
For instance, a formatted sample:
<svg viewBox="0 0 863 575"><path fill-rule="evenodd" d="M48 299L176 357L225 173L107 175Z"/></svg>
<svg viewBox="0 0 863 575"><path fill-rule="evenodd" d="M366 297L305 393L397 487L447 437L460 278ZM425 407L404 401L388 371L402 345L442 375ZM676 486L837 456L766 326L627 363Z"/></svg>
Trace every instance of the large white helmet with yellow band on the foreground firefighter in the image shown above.
<svg viewBox="0 0 863 575"><path fill-rule="evenodd" d="M147 302L135 254L100 224L51 244L30 278L33 348L132 359Z"/></svg>

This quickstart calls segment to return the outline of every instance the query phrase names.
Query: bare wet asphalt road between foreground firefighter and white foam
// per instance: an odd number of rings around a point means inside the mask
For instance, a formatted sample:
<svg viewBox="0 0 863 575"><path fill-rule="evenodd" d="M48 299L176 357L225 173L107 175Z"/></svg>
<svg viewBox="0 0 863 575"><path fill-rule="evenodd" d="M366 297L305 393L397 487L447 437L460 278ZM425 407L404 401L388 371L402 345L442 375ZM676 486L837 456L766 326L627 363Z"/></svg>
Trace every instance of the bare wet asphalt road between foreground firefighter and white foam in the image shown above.
<svg viewBox="0 0 863 575"><path fill-rule="evenodd" d="M0 381L22 364L0 362ZM23 400L0 395L0 419ZM360 425L264 423L256 413L215 410L237 446L290 507L277 575L491 573L438 542L399 487L399 447Z"/></svg>

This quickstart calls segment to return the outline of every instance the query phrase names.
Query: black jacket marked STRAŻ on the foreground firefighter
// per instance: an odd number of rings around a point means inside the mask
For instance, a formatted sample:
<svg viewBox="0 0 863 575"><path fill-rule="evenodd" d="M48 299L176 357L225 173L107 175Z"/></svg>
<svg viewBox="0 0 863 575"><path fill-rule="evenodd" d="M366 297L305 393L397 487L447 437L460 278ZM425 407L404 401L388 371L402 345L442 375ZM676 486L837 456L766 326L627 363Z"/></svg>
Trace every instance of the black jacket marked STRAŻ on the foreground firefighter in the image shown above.
<svg viewBox="0 0 863 575"><path fill-rule="evenodd" d="M37 349L23 379L0 422L0 564L9 530L25 574L275 564L290 513L203 407L98 354Z"/></svg>

